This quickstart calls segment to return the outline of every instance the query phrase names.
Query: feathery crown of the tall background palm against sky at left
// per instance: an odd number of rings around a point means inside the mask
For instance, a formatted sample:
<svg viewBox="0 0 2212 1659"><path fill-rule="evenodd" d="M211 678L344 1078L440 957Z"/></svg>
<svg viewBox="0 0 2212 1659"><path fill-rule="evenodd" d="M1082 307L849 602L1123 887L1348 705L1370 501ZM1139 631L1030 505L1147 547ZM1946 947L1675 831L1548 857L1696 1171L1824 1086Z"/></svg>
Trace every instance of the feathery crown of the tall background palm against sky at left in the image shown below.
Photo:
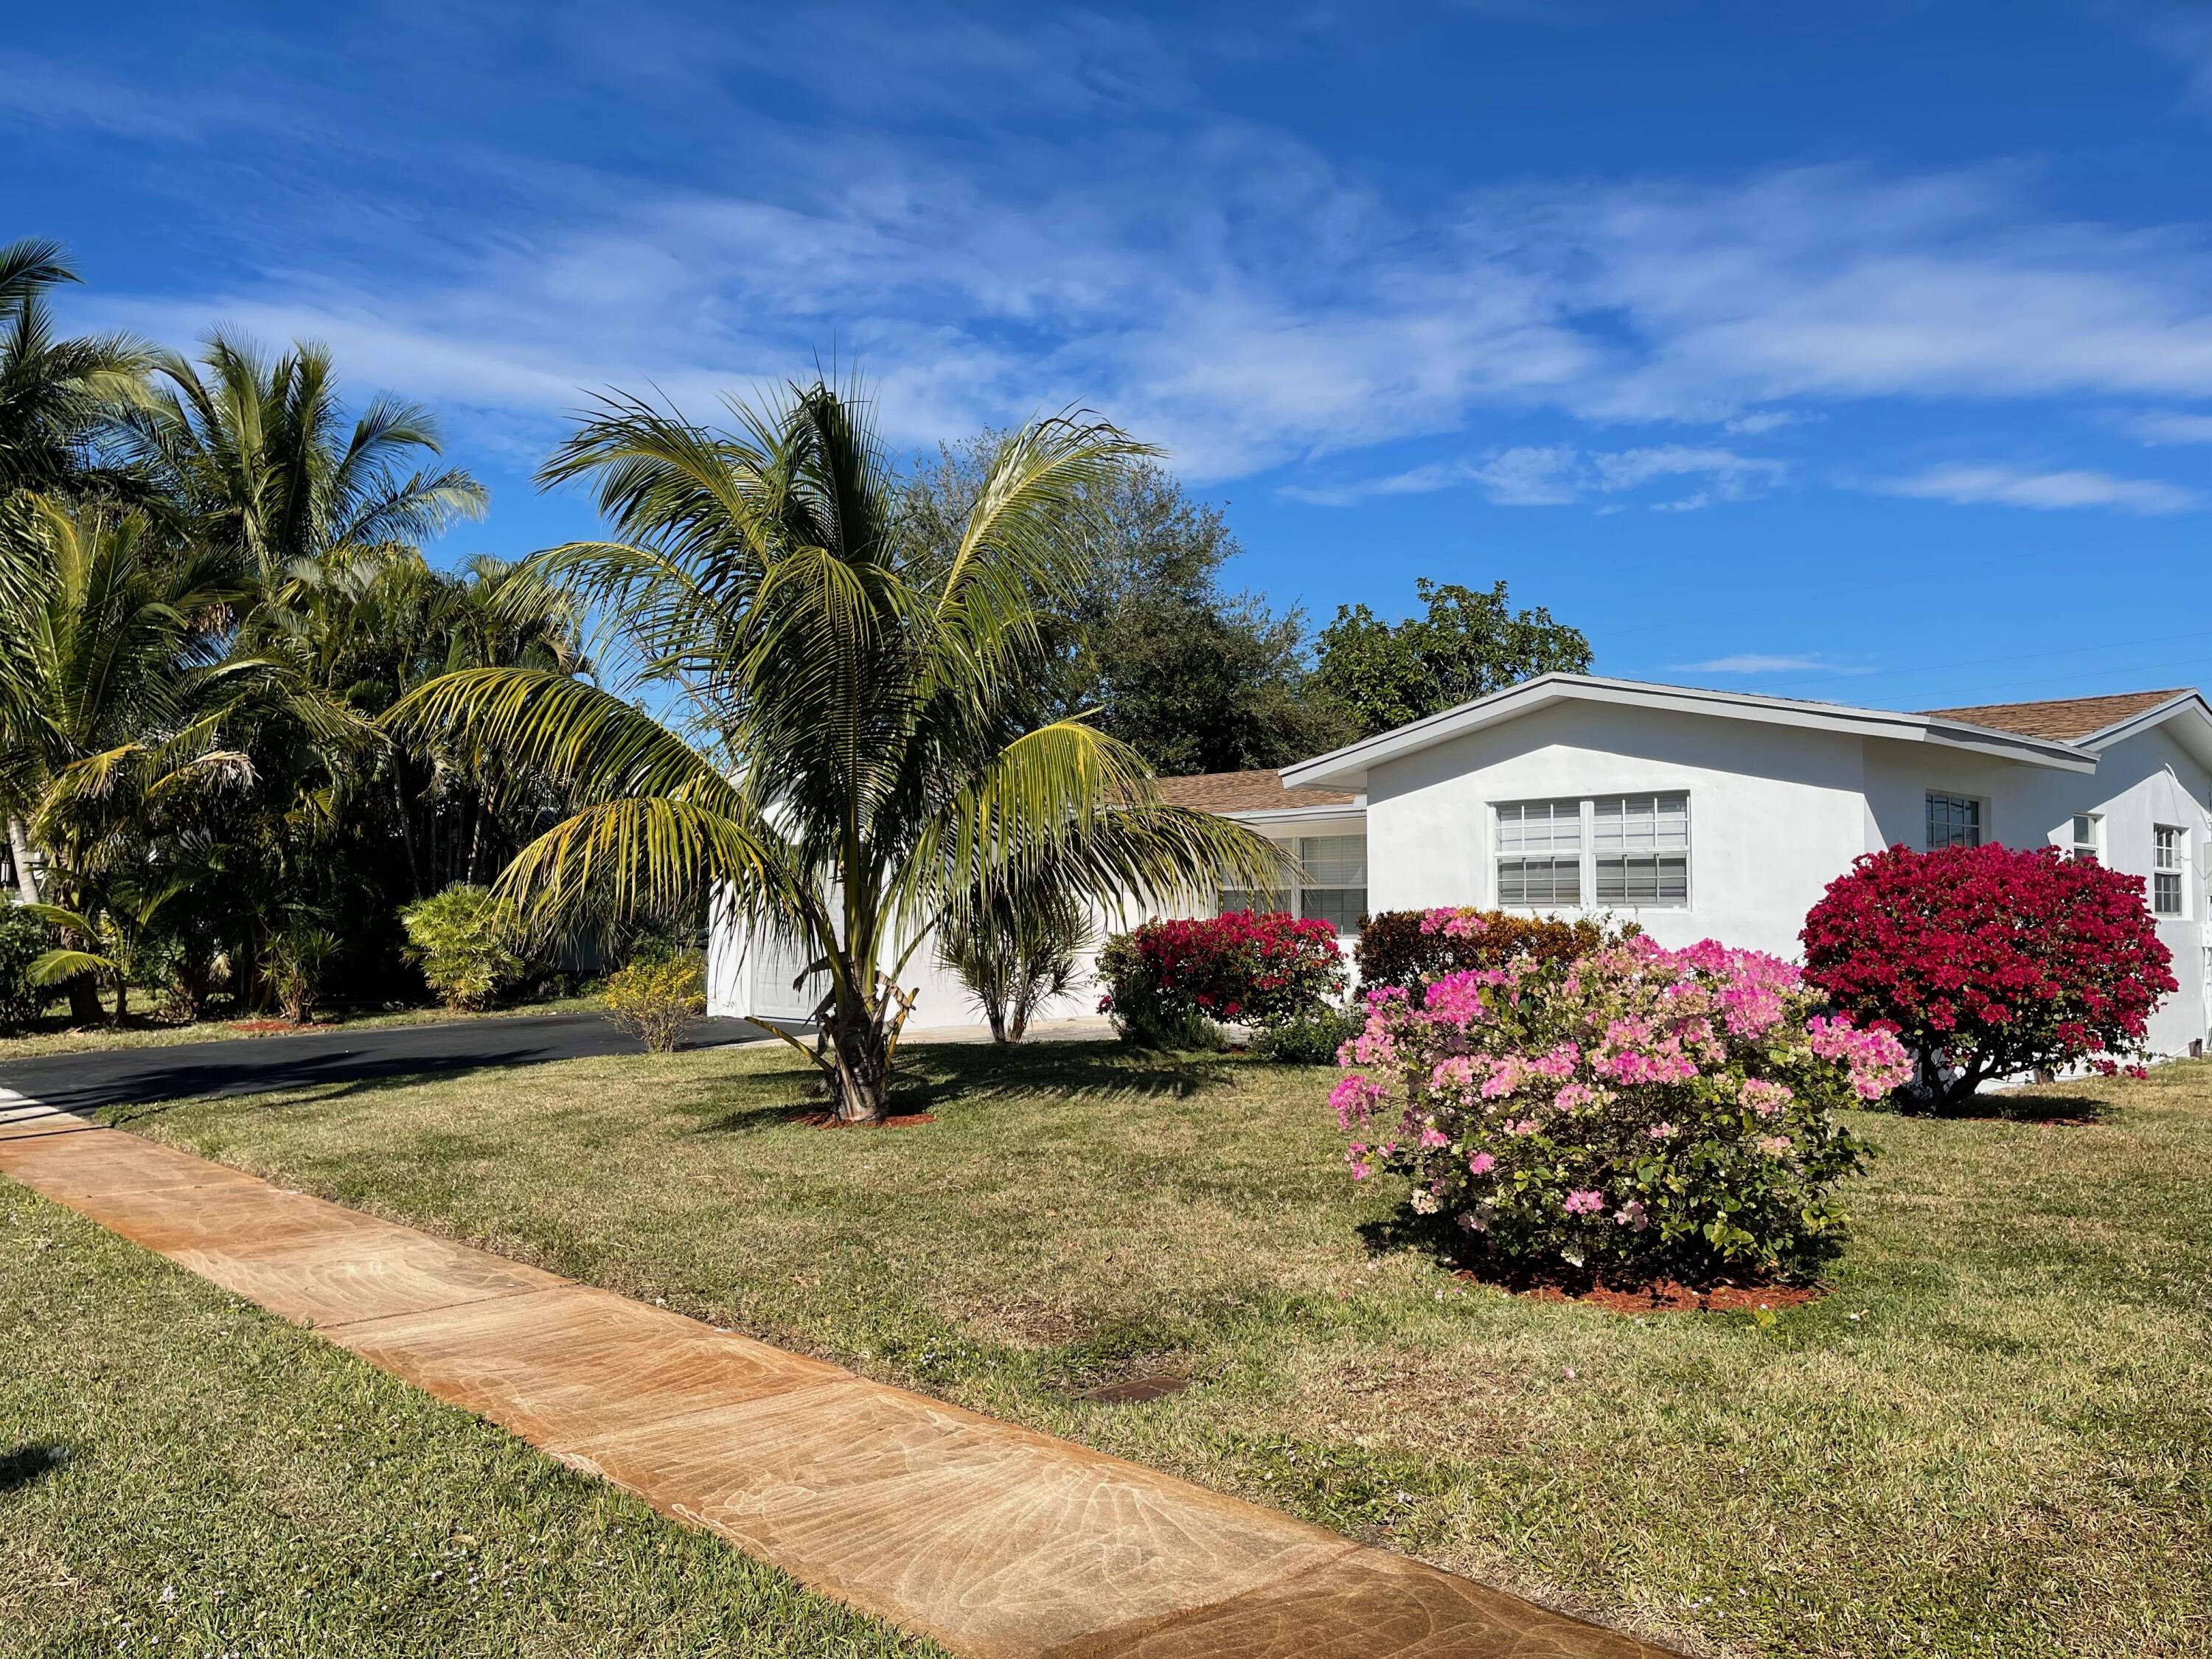
<svg viewBox="0 0 2212 1659"><path fill-rule="evenodd" d="M217 332L197 363L161 352L153 367L166 385L128 411L124 453L270 586L301 560L425 542L484 511L467 471L409 471L438 453L420 405L374 398L345 431L323 345L270 358Z"/></svg>

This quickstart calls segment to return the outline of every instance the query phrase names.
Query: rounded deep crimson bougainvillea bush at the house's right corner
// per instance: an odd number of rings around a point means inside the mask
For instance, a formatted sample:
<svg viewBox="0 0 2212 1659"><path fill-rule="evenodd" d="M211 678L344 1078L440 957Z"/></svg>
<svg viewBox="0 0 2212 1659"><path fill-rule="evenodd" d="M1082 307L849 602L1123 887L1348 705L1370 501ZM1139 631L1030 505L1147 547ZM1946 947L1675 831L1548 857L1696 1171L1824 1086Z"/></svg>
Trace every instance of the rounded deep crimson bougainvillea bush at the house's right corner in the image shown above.
<svg viewBox="0 0 2212 1659"><path fill-rule="evenodd" d="M1955 1110L1991 1077L2135 1064L2172 958L2143 878L2055 847L1889 847L1805 918L1805 973L1920 1057L1909 1102Z"/></svg>

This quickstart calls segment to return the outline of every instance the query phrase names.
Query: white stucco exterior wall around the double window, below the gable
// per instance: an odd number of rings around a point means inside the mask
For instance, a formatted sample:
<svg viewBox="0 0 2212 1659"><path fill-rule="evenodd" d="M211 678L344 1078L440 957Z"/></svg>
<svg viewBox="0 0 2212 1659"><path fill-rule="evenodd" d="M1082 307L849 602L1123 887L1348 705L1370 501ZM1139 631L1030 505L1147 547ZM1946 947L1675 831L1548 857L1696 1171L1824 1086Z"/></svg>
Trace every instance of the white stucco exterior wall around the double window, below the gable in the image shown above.
<svg viewBox="0 0 2212 1659"><path fill-rule="evenodd" d="M1982 836L2015 847L2070 845L2073 814L2097 812L2104 860L2141 876L2146 891L2154 825L2185 830L2185 914L2159 920L2181 989L2152 1018L2150 1044L2185 1053L2205 1035L2212 772L2161 728L2112 743L2095 772L2066 772L1697 712L1542 708L1369 768L1369 905L1495 907L1500 803L1686 792L1688 907L1615 914L1668 947L1717 938L1796 958L1805 911L1858 854L1927 845L1931 790L1982 801Z"/></svg>

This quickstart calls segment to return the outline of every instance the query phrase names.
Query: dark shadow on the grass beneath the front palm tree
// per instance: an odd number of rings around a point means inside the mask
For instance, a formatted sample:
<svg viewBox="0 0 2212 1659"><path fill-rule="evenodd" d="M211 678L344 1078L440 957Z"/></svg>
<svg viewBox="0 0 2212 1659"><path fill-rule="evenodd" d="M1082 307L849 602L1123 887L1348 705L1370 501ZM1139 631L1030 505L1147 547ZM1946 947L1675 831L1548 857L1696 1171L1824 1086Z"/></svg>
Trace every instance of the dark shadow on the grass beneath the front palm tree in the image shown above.
<svg viewBox="0 0 2212 1659"><path fill-rule="evenodd" d="M929 1044L905 1048L891 1084L891 1115L936 1113L962 1102L1055 1102L1066 1106L1115 1099L1190 1099L1232 1088L1234 1062L1225 1055L1155 1055L1108 1042ZM743 1079L717 1084L677 1110L699 1117L712 1135L752 1135L785 1128L825 1108L818 1073L799 1060ZM750 1095L734 1104L732 1095Z"/></svg>

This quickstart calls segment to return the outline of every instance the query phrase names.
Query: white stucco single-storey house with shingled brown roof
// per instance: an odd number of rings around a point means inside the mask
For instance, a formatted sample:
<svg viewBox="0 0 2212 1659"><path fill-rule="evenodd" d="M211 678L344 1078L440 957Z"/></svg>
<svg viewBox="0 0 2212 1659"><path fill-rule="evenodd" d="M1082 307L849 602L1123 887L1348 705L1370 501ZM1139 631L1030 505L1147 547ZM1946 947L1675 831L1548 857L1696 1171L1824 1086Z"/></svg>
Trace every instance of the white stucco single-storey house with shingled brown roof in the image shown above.
<svg viewBox="0 0 2212 1659"><path fill-rule="evenodd" d="M1305 869L1294 894L1221 907L1323 916L1347 940L1363 914L1480 905L1796 956L1805 911L1863 852L2048 843L2143 876L2181 982L2152 1048L2188 1053L2212 1024L2212 706L2197 690L1907 714L1544 675L1281 772L1166 790ZM768 989L792 967L770 956L717 929L717 1013L794 1013ZM905 982L922 987L914 1029L973 1018L933 967ZM1082 987L1057 1013L1093 1000Z"/></svg>

